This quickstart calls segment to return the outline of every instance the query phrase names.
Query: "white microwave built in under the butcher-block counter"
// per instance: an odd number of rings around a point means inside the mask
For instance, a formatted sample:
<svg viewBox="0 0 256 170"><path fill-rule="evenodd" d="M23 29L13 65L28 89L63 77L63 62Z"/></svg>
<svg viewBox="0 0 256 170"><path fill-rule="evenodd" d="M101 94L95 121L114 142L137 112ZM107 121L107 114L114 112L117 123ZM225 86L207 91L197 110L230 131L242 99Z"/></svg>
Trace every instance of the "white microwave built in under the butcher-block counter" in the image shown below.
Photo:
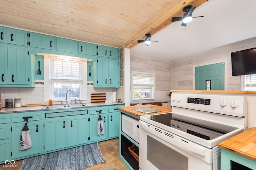
<svg viewBox="0 0 256 170"><path fill-rule="evenodd" d="M139 120L125 114L121 115L121 119L122 132L124 132L137 143L140 143Z"/></svg>

